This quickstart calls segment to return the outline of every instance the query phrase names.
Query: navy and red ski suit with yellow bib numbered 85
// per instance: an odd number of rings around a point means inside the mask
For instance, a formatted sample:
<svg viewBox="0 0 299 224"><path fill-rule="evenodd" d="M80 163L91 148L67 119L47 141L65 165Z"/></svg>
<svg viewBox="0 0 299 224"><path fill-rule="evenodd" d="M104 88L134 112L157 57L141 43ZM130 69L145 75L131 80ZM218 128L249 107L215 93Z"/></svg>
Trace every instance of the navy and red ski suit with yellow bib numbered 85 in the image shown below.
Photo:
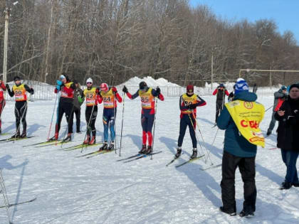
<svg viewBox="0 0 299 224"><path fill-rule="evenodd" d="M145 92L137 90L134 95L127 92L127 97L134 100L137 97L141 99L142 111L141 111L141 125L142 125L142 144L152 146L152 126L154 124L154 97L158 97L159 100L164 100L164 96L152 88L147 88Z"/></svg>

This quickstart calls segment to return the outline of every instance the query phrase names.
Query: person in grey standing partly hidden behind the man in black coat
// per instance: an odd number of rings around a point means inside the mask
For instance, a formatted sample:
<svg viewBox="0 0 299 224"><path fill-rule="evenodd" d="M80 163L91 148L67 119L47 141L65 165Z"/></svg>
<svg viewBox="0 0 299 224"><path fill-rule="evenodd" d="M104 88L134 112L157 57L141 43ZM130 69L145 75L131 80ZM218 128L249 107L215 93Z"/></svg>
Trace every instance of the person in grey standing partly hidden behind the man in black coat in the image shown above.
<svg viewBox="0 0 299 224"><path fill-rule="evenodd" d="M268 127L267 136L272 133L273 128L275 127L276 119L274 117L276 111L278 111L279 107L283 104L283 101L288 98L287 87L282 85L277 92L274 92L274 104L273 104L273 112L271 122Z"/></svg>

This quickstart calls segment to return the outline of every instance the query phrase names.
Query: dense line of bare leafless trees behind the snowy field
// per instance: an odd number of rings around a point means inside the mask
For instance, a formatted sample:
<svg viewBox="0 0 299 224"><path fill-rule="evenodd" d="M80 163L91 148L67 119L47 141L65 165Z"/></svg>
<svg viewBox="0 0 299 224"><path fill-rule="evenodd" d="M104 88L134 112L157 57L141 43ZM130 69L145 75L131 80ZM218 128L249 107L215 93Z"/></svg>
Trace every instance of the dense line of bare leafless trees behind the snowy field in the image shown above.
<svg viewBox="0 0 299 224"><path fill-rule="evenodd" d="M299 69L294 35L278 33L275 21L227 21L187 0L21 0L15 6L1 1L1 56L6 6L8 80L19 75L53 84L66 73L81 83L91 77L117 85L150 75L203 85L211 80L212 62L219 82L235 80L244 68ZM298 73L283 74L283 80L282 74L272 73L273 85L298 81ZM242 75L251 84L269 85L268 73Z"/></svg>

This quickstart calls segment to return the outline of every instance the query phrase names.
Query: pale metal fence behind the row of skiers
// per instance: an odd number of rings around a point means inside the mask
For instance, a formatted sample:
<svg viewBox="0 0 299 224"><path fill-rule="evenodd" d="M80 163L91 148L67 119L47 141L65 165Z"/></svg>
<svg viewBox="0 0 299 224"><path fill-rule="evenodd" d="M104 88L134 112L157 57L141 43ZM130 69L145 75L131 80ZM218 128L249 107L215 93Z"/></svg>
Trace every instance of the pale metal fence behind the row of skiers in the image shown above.
<svg viewBox="0 0 299 224"><path fill-rule="evenodd" d="M10 88L13 86L13 84L9 84ZM54 93L55 86L53 85L29 85L30 87L33 87L34 89L34 95L31 95L27 92L28 100L53 100L56 97L56 94ZM118 85L117 90L121 92L123 85ZM83 89L86 87L83 86ZM205 96L205 95L212 95L214 92L213 89L209 87L194 87L194 92L197 95ZM233 87L227 86L229 92L233 90ZM131 94L134 94L138 90L138 86L128 86L127 89ZM162 86L160 87L162 94L164 97L179 97L180 95L184 94L186 92L186 87L174 87L174 86ZM277 91L279 87L273 87L272 90L269 87L259 87L257 94L259 97L268 97L273 96L273 92ZM9 94L6 93L6 100L14 100L14 97L9 97Z"/></svg>

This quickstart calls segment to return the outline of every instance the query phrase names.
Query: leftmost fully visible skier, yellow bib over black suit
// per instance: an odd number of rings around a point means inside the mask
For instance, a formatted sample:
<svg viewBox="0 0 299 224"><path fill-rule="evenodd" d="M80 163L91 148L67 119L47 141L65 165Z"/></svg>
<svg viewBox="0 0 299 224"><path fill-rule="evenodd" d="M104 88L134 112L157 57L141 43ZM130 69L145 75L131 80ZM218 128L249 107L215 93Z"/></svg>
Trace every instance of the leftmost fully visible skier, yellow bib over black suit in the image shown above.
<svg viewBox="0 0 299 224"><path fill-rule="evenodd" d="M14 108L14 115L16 116L16 134L11 138L25 138L26 137L26 113L27 113L27 95L26 91L30 92L33 95L34 90L28 85L21 84L21 78L19 76L14 77L15 85L12 87L12 91L9 88L9 85L6 84L6 89L9 92L11 97L14 97L16 100L16 105ZM20 135L20 125L23 124L23 132Z"/></svg>

